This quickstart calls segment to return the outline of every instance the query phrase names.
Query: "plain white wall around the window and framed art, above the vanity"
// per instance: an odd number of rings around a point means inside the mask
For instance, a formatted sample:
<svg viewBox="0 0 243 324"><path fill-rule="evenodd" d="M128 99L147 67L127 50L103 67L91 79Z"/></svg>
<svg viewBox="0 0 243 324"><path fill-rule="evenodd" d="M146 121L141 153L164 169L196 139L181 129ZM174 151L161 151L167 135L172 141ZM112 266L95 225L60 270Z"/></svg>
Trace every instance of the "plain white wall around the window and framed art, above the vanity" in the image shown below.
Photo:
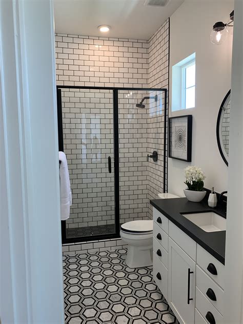
<svg viewBox="0 0 243 324"><path fill-rule="evenodd" d="M170 117L193 115L192 162L169 158L168 191L184 196L184 169L201 167L207 178L205 186L221 192L227 190L228 168L222 160L216 139L216 120L220 104L231 84L232 36L222 45L210 42L212 26L227 22L234 8L233 0L186 0L170 18L170 98L172 66L196 53L195 108L171 112Z"/></svg>

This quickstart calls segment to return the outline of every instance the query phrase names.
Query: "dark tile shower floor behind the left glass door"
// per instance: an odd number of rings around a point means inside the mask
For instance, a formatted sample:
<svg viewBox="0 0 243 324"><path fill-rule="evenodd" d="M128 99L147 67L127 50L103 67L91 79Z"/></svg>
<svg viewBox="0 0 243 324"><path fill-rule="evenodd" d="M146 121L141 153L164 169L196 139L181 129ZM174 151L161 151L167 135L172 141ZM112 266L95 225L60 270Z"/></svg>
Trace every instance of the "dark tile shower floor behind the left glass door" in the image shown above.
<svg viewBox="0 0 243 324"><path fill-rule="evenodd" d="M115 233L115 224L68 228L67 238Z"/></svg>

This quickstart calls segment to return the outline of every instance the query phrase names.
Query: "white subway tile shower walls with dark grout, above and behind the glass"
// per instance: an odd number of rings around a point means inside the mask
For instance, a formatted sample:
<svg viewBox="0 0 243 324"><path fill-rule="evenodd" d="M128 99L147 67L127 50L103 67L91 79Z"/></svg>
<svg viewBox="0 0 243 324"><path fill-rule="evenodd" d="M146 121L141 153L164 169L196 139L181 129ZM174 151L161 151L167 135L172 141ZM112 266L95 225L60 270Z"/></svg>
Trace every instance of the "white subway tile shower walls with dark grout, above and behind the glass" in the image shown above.
<svg viewBox="0 0 243 324"><path fill-rule="evenodd" d="M57 85L167 88L169 20L149 40L56 34ZM158 95L135 107L141 98ZM112 92L62 90L63 131L73 206L67 227L114 222ZM148 107L148 108L147 108ZM147 154L156 150L157 163ZM152 217L164 190L164 107L159 92L119 92L120 222ZM106 187L104 186L106 184ZM105 190L106 188L106 190Z"/></svg>

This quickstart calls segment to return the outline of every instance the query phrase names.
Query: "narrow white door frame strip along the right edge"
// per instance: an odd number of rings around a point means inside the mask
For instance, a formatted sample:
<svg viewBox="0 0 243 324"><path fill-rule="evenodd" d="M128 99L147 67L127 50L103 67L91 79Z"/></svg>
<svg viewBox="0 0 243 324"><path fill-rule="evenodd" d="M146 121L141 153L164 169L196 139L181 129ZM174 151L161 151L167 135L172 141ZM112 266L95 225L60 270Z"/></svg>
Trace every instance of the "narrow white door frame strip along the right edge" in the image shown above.
<svg viewBox="0 0 243 324"><path fill-rule="evenodd" d="M243 322L243 2L235 0L226 225L225 323Z"/></svg>

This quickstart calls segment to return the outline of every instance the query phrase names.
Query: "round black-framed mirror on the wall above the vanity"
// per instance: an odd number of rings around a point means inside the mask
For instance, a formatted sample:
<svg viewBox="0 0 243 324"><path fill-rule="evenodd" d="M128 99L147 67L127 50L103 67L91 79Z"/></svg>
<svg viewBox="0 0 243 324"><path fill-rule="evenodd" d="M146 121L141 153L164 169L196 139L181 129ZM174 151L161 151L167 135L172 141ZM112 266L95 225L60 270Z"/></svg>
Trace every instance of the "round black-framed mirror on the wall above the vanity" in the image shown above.
<svg viewBox="0 0 243 324"><path fill-rule="evenodd" d="M229 138L230 138L230 90L222 100L217 118L217 143L218 149L228 166L229 159Z"/></svg>

